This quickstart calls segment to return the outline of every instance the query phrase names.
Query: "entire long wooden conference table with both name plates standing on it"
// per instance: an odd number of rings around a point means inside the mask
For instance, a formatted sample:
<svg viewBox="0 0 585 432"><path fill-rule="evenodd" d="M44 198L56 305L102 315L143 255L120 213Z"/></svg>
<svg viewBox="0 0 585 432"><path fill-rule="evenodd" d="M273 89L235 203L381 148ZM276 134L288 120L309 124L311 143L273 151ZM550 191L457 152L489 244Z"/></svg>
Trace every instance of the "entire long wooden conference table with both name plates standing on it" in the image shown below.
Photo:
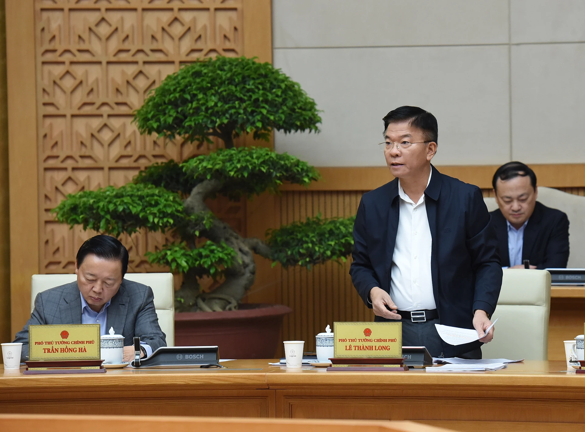
<svg viewBox="0 0 585 432"><path fill-rule="evenodd" d="M0 413L414 420L453 430L585 431L585 376L565 362L480 373L327 372L267 360L229 369L0 375Z"/></svg>

